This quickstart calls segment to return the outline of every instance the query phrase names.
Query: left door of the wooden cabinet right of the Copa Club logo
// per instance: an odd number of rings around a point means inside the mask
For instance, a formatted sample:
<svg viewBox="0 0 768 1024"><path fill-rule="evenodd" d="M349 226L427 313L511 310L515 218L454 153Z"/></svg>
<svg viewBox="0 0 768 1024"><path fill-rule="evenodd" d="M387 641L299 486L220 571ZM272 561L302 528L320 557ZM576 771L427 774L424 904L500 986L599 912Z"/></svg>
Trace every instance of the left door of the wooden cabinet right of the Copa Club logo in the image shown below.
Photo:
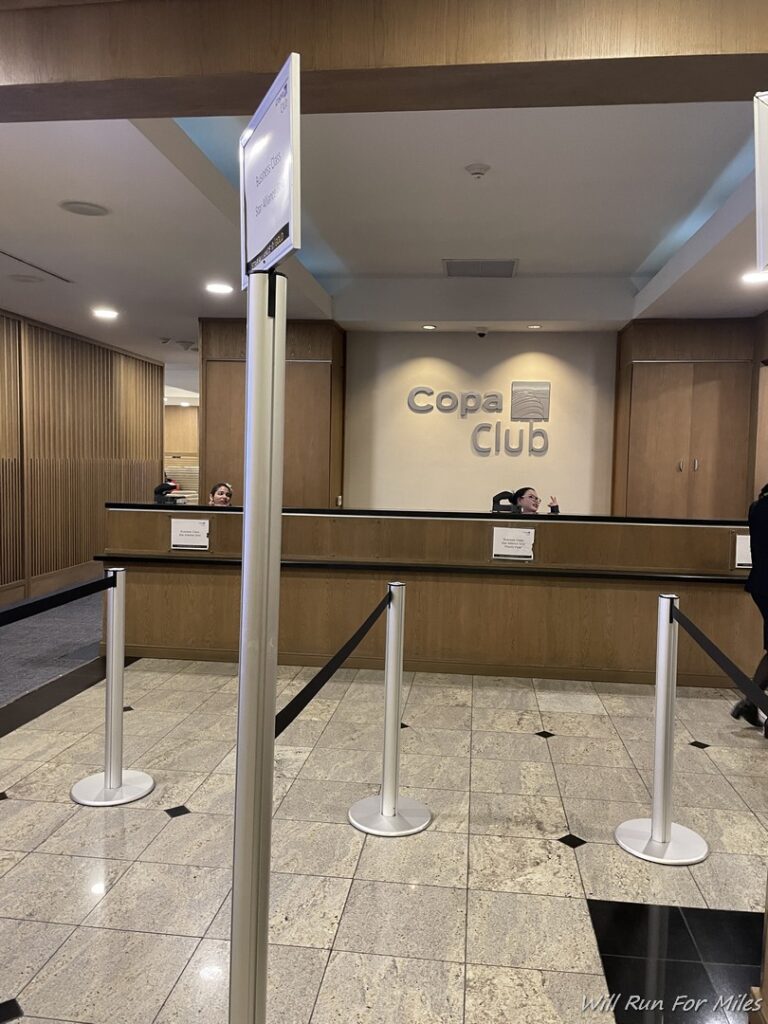
<svg viewBox="0 0 768 1024"><path fill-rule="evenodd" d="M693 393L692 362L636 362L627 515L685 518Z"/></svg>

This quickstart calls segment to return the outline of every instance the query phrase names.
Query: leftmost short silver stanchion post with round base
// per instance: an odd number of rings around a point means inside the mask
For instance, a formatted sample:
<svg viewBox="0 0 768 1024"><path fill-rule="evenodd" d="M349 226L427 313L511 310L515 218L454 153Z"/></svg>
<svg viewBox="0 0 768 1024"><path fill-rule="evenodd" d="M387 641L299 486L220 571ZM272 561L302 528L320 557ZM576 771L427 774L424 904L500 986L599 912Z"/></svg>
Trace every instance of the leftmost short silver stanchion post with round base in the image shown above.
<svg viewBox="0 0 768 1024"><path fill-rule="evenodd" d="M123 692L125 671L125 569L108 569L106 693L104 770L76 782L70 796L85 807L115 807L140 800L155 788L146 772L123 770Z"/></svg>

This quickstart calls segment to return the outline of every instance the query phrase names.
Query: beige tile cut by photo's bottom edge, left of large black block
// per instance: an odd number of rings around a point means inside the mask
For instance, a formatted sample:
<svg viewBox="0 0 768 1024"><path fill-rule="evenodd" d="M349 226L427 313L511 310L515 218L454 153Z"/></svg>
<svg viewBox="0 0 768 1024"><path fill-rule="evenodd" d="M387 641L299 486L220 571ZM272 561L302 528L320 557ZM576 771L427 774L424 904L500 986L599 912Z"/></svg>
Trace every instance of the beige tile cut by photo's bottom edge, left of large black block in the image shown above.
<svg viewBox="0 0 768 1024"><path fill-rule="evenodd" d="M605 1021L599 1011L583 1011L583 999L608 994L602 974L467 967L464 1024L573 1024ZM612 1016L612 1015L611 1015Z"/></svg>

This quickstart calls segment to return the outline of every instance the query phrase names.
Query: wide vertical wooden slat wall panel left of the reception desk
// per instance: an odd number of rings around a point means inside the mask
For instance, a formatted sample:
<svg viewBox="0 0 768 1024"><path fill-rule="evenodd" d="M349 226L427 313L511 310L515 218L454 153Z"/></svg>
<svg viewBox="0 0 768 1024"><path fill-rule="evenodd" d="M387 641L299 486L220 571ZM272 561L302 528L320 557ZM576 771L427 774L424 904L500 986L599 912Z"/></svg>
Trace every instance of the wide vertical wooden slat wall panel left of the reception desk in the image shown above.
<svg viewBox="0 0 768 1024"><path fill-rule="evenodd" d="M18 389L20 372L27 588L37 593L102 549L104 502L152 500L163 368L24 321L19 341L19 366L2 380Z"/></svg>

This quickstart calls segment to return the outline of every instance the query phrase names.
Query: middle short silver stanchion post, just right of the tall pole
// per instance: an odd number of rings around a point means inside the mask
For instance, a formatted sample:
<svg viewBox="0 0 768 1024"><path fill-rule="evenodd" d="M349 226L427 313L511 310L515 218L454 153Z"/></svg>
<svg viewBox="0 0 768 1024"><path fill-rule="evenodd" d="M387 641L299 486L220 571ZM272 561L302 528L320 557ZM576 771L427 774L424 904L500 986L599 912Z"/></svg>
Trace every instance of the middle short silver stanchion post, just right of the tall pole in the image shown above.
<svg viewBox="0 0 768 1024"><path fill-rule="evenodd" d="M418 800L400 797L400 694L406 616L406 585L389 584L384 655L384 757L381 794L366 797L348 811L350 824L371 836L413 836L423 831L432 812Z"/></svg>

